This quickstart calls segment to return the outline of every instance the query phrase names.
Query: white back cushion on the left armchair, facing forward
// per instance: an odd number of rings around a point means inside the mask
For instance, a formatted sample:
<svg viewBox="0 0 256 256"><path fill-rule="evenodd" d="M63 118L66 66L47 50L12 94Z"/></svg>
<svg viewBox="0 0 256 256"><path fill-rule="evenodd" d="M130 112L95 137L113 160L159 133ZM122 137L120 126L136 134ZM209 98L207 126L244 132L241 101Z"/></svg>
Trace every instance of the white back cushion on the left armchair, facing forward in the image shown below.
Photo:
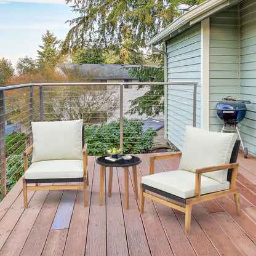
<svg viewBox="0 0 256 256"><path fill-rule="evenodd" d="M53 159L82 159L82 119L60 122L31 122L32 162Z"/></svg>

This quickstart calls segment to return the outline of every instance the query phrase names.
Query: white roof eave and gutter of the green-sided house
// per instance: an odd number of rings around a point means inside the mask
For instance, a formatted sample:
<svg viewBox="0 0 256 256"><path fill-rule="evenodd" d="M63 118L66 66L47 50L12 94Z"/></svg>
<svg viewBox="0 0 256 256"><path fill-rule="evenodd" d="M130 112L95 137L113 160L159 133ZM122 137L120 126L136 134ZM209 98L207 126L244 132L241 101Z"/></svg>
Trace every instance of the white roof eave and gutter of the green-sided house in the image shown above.
<svg viewBox="0 0 256 256"><path fill-rule="evenodd" d="M161 42L167 41L196 23L201 22L201 20L210 17L210 15L216 14L217 12L220 12L220 10L242 1L244 0L208 0L206 2L202 2L199 6L185 12L183 15L180 15L180 17L170 23L170 25L164 28L164 30L156 34L156 36L151 38L150 41L146 42L146 45L156 46Z"/></svg>

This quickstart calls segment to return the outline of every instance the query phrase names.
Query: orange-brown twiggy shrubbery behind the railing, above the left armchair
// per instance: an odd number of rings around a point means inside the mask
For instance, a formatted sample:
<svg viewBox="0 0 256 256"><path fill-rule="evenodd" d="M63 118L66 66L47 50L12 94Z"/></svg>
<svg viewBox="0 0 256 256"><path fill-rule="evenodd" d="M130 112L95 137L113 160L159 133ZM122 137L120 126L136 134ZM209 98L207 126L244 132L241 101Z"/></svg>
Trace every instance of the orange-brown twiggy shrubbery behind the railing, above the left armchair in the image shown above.
<svg viewBox="0 0 256 256"><path fill-rule="evenodd" d="M89 81L79 70L66 70L65 74L66 76L61 76L52 68L44 68L35 74L9 79L8 85ZM116 89L114 86L108 89L106 86L46 86L44 87L44 118L55 121L84 119L84 123L87 124L105 122L119 105ZM6 92L6 105L8 106L6 118L13 122L20 122L23 126L28 124L26 120L28 117L26 108L29 108L28 90L28 88L22 88ZM39 105L39 89L37 88L34 89L34 120L39 120Z"/></svg>

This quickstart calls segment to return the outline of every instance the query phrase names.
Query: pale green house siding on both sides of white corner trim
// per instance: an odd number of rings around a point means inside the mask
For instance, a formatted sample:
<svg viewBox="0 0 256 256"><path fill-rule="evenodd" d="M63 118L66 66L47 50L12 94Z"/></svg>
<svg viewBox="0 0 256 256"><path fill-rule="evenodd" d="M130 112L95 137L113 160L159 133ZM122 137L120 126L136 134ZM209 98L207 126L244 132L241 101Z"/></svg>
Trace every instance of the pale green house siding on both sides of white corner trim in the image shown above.
<svg viewBox="0 0 256 256"><path fill-rule="evenodd" d="M256 1L234 3L228 9L209 15L209 23L209 129L219 132L223 125L215 113L215 105L222 98L231 95L250 100L246 118L240 123L241 137L249 153L256 156ZM207 47L206 24L207 20L192 25L166 42L168 81L196 81L199 84L197 127L201 127L201 113L202 116L207 116L201 110L201 103L203 105L207 102L207 98L203 97L208 97L207 83L206 87L201 88L201 61L207 63L207 49L201 49L202 38L204 47ZM201 34L201 25L206 37ZM208 81L207 75L206 68L206 73L202 76L204 81ZM189 100L190 96L183 91L174 91L171 87L167 90L167 138L180 150L185 125L192 123L189 104L185 104ZM204 125L207 123L204 124L202 120L202 126Z"/></svg>

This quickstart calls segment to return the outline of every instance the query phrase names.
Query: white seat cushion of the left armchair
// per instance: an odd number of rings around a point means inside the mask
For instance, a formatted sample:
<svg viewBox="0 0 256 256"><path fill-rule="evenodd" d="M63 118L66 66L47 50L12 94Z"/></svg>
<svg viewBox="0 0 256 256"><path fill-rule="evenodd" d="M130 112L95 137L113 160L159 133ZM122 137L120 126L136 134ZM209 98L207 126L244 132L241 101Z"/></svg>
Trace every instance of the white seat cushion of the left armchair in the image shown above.
<svg viewBox="0 0 256 256"><path fill-rule="evenodd" d="M84 170L82 160L78 159L33 162L25 172L25 179L81 177L84 177Z"/></svg>

